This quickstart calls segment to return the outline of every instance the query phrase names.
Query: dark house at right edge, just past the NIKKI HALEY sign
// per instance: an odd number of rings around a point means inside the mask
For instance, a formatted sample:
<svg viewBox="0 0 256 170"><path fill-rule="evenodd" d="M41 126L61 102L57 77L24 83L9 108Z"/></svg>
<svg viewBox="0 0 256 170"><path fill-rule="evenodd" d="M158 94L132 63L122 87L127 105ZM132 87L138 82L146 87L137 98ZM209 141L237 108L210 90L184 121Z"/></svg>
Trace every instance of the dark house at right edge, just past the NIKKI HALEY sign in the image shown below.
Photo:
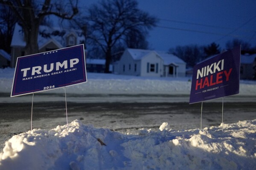
<svg viewBox="0 0 256 170"><path fill-rule="evenodd" d="M256 54L241 55L240 79L253 79L256 66Z"/></svg>

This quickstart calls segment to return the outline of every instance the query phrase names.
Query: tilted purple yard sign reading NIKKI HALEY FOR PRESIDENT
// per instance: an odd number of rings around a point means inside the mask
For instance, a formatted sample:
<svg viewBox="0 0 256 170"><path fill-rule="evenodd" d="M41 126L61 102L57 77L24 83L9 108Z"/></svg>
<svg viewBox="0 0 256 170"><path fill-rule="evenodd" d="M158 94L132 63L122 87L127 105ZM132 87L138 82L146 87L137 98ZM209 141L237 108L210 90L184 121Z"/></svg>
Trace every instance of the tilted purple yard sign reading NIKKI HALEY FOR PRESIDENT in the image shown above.
<svg viewBox="0 0 256 170"><path fill-rule="evenodd" d="M194 66L189 104L239 94L241 46Z"/></svg>

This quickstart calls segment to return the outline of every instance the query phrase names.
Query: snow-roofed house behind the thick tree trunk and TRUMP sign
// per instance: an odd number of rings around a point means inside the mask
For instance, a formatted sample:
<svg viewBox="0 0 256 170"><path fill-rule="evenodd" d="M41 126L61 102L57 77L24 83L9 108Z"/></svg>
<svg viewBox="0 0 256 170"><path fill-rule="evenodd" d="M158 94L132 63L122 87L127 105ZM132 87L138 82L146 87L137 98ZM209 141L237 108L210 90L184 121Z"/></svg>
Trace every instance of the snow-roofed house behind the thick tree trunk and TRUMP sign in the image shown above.
<svg viewBox="0 0 256 170"><path fill-rule="evenodd" d="M39 52L46 52L55 49L61 49L68 46L82 44L85 37L79 30L66 30L60 28L50 28L48 26L39 26L38 47ZM24 33L22 27L16 23L12 36L12 52L11 52L11 67L15 67L17 57L25 55Z"/></svg>

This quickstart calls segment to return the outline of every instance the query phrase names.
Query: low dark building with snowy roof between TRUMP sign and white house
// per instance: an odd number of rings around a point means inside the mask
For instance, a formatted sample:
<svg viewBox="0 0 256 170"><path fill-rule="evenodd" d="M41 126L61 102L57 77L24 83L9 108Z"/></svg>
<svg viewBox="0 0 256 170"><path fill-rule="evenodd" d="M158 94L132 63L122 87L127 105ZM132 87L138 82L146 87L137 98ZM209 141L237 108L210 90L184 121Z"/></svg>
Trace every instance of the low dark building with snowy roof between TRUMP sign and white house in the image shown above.
<svg viewBox="0 0 256 170"><path fill-rule="evenodd" d="M104 72L105 71L105 63L104 59L86 59L86 71L87 72ZM112 72L112 65L109 65L109 72Z"/></svg>

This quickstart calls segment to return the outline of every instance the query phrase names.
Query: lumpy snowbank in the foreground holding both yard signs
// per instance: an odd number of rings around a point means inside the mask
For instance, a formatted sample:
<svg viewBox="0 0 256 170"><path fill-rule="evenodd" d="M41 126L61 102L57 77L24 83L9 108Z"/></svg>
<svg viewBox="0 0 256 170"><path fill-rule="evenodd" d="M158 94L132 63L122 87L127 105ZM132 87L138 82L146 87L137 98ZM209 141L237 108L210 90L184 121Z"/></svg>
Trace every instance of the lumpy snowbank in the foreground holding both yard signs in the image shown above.
<svg viewBox="0 0 256 170"><path fill-rule="evenodd" d="M1 170L256 169L256 120L204 130L139 130L124 135L80 121L13 136Z"/></svg>

